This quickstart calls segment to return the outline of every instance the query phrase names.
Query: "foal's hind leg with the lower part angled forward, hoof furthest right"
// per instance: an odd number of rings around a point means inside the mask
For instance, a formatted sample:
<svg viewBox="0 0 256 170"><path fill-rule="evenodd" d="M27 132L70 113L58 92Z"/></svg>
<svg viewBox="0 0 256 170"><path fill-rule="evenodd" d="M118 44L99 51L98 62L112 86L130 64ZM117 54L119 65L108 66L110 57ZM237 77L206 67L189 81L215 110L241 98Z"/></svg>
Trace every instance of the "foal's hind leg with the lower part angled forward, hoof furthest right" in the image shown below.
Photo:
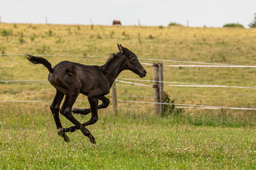
<svg viewBox="0 0 256 170"><path fill-rule="evenodd" d="M84 126L82 126L82 124L78 122L78 120L76 120L71 113L71 108L75 103L75 99L77 97L78 97L78 94L73 94L73 93L65 94L65 101L63 103L63 106L60 109L60 113L63 114L65 118L70 120L75 125L76 129L80 129L85 136L89 137L90 142L96 144L95 137L93 137L90 131L87 130L87 128L85 128ZM66 130L63 129L63 132L66 132Z"/></svg>

